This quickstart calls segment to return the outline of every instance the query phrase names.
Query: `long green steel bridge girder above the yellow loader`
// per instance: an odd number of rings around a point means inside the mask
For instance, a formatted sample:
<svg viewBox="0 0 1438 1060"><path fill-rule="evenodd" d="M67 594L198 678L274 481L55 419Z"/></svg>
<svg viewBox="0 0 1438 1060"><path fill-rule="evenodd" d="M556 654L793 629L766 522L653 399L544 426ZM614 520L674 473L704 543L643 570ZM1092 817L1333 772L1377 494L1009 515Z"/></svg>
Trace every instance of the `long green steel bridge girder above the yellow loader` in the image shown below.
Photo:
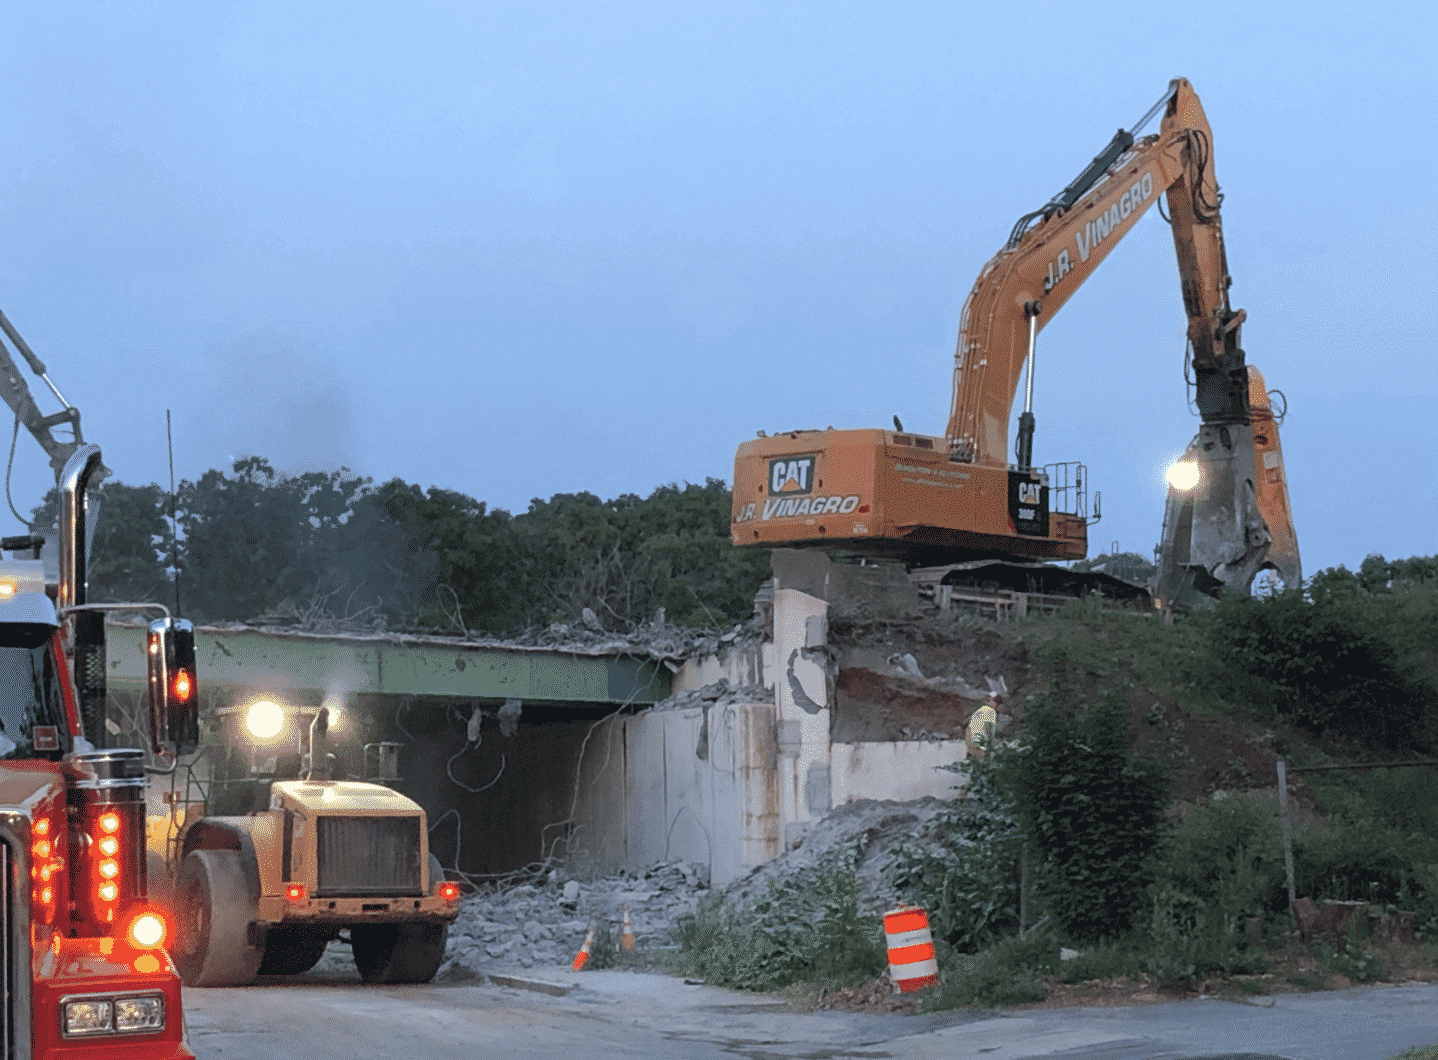
<svg viewBox="0 0 1438 1060"><path fill-rule="evenodd" d="M144 637L141 627L106 627L112 689L144 690ZM669 669L650 656L204 626L196 627L194 641L200 689L232 696L288 693L318 702L360 693L647 706L670 689Z"/></svg>

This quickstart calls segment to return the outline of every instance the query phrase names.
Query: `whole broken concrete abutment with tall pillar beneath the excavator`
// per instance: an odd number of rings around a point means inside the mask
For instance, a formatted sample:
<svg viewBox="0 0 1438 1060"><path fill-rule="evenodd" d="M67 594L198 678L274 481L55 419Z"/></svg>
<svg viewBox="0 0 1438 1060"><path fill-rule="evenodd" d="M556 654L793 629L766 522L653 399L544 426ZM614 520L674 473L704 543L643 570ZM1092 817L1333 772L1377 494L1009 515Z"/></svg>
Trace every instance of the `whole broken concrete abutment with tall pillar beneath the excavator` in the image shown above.
<svg viewBox="0 0 1438 1060"><path fill-rule="evenodd" d="M926 676L905 649L830 643L835 616L848 627L916 616L903 571L779 549L774 572L768 636L726 634L672 667L667 700L595 728L571 841L595 867L683 859L723 886L835 805L953 795L961 777L943 767L963 761L965 723L988 692Z"/></svg>

